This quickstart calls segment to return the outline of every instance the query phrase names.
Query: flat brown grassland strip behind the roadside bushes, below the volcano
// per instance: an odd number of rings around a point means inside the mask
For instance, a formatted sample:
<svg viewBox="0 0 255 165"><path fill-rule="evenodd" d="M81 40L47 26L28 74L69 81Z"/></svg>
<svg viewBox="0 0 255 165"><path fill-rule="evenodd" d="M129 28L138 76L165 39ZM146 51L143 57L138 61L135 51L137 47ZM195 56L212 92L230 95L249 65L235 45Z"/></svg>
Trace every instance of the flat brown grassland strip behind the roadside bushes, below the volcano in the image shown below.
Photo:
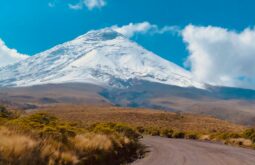
<svg viewBox="0 0 255 165"><path fill-rule="evenodd" d="M172 113L149 109L61 105L43 108L54 115L84 124L98 122L126 123L134 127L167 128L200 133L240 133L245 127L210 116Z"/></svg>

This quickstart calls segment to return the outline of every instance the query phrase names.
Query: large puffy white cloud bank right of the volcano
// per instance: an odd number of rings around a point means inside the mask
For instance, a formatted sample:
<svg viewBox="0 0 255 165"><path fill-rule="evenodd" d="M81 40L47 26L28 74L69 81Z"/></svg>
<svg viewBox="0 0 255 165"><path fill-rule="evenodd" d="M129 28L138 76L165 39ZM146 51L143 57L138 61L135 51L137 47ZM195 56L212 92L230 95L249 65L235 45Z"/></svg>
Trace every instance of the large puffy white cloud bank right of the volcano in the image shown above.
<svg viewBox="0 0 255 165"><path fill-rule="evenodd" d="M182 36L190 53L186 63L200 81L255 89L255 29L188 25Z"/></svg>

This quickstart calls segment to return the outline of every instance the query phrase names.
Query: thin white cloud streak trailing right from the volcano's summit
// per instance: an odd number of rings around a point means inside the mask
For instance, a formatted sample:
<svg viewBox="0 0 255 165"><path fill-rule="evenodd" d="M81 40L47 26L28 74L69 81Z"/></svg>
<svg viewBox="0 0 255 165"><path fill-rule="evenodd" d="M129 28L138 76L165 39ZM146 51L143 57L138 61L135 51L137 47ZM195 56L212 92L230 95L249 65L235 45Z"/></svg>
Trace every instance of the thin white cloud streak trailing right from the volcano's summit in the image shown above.
<svg viewBox="0 0 255 165"><path fill-rule="evenodd" d="M127 36L127 37L133 37L137 33L149 33L149 34L163 34L166 32L179 32L179 28L177 26L164 26L163 28L159 28L157 25L151 24L149 22L141 22L141 23L130 23L128 25L124 26L112 26L112 28Z"/></svg>

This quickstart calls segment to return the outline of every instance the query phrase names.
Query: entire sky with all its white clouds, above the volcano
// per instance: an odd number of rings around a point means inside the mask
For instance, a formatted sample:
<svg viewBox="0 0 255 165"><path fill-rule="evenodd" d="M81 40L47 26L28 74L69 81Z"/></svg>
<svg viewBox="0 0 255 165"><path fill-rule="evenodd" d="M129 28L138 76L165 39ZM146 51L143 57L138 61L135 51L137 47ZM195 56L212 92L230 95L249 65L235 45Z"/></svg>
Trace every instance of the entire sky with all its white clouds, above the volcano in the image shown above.
<svg viewBox="0 0 255 165"><path fill-rule="evenodd" d="M0 62L114 26L201 81L255 89L254 6L254 0L0 0Z"/></svg>

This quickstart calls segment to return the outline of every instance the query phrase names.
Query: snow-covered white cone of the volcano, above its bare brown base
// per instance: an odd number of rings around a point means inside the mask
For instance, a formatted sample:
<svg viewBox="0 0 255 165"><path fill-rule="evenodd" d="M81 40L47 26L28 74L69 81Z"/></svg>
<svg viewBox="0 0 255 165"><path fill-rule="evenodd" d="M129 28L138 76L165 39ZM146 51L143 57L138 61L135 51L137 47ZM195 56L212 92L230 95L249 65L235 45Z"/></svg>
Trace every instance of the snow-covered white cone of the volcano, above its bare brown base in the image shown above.
<svg viewBox="0 0 255 165"><path fill-rule="evenodd" d="M119 86L130 80L203 88L181 67L116 31L90 31L70 42L0 69L0 86L84 82Z"/></svg>

